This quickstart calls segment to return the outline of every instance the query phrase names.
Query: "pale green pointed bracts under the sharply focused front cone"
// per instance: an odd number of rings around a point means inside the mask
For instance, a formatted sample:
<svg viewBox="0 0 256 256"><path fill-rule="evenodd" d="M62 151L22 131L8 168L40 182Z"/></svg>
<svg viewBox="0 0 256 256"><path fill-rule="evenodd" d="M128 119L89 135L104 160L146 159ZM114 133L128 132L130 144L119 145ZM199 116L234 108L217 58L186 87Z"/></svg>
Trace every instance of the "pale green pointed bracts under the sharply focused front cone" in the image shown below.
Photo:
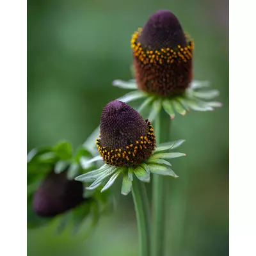
<svg viewBox="0 0 256 256"><path fill-rule="evenodd" d="M75 178L81 182L92 182L88 186L88 190L101 188L101 192L108 189L122 173L122 195L128 195L132 188L132 180L138 179L142 182L150 182L150 173L159 175L168 175L173 178L178 178L171 168L171 164L165 159L186 156L186 154L178 152L169 152L170 150L179 147L184 140L168 142L159 145L154 150L151 157L145 163L138 164L132 167L116 167L108 164L103 164L99 169L92 172L84 173ZM88 163L102 160L100 157L90 159Z"/></svg>

